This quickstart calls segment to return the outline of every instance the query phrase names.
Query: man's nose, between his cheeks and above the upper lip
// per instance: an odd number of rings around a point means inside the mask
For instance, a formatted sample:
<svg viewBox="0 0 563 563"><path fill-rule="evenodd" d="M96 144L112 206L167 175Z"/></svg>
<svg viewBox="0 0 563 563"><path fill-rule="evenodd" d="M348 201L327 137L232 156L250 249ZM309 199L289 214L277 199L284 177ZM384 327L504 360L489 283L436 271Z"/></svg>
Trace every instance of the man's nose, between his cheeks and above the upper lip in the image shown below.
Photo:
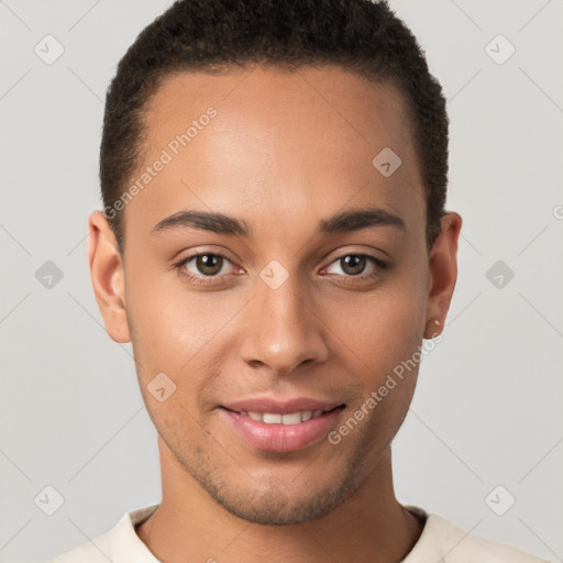
<svg viewBox="0 0 563 563"><path fill-rule="evenodd" d="M300 364L324 362L329 355L327 328L312 298L300 291L297 276L290 275L276 289L261 279L257 286L245 311L243 360L280 375L294 373Z"/></svg>

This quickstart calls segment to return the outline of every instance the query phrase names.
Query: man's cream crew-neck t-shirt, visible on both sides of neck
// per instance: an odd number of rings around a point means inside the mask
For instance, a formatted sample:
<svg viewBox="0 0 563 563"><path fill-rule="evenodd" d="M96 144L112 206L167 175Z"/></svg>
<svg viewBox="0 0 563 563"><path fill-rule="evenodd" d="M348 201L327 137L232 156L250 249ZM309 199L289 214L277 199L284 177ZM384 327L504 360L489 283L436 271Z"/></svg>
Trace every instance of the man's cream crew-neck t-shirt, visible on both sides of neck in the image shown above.
<svg viewBox="0 0 563 563"><path fill-rule="evenodd" d="M135 526L146 520L157 506L126 512L110 531L51 563L159 563L135 532ZM426 518L426 523L418 542L401 563L549 563L515 548L468 534L441 516L417 506L405 508Z"/></svg>

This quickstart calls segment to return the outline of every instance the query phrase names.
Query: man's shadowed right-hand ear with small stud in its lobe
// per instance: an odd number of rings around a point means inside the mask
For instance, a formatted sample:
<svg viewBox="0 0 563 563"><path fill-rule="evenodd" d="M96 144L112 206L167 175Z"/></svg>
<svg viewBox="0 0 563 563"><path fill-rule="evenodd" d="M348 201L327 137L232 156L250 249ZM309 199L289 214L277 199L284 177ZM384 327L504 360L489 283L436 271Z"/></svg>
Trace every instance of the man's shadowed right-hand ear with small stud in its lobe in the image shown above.
<svg viewBox="0 0 563 563"><path fill-rule="evenodd" d="M448 212L442 217L440 224L440 234L432 245L429 256L430 273L424 329L427 339L435 338L442 332L457 280L457 240L462 228L462 218L453 211Z"/></svg>

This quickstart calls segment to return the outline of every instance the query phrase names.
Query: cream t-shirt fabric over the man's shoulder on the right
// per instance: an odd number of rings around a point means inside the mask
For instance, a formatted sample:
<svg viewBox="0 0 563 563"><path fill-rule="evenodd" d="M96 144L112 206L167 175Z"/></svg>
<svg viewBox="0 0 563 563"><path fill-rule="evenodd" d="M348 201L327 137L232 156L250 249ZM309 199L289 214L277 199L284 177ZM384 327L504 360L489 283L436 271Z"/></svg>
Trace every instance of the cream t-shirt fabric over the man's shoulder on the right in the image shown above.
<svg viewBox="0 0 563 563"><path fill-rule="evenodd" d="M419 541L404 563L442 561L442 558L449 563L549 563L510 545L470 533L440 515L430 514Z"/></svg>

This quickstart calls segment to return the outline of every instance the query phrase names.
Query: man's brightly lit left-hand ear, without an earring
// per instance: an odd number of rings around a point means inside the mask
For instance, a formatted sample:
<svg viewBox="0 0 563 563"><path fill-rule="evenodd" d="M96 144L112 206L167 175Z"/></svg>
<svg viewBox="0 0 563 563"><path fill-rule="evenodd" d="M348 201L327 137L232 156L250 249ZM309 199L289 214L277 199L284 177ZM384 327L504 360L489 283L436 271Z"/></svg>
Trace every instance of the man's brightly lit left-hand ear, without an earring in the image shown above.
<svg viewBox="0 0 563 563"><path fill-rule="evenodd" d="M115 342L130 342L125 273L115 234L101 211L90 213L88 231L90 277L106 330Z"/></svg>

